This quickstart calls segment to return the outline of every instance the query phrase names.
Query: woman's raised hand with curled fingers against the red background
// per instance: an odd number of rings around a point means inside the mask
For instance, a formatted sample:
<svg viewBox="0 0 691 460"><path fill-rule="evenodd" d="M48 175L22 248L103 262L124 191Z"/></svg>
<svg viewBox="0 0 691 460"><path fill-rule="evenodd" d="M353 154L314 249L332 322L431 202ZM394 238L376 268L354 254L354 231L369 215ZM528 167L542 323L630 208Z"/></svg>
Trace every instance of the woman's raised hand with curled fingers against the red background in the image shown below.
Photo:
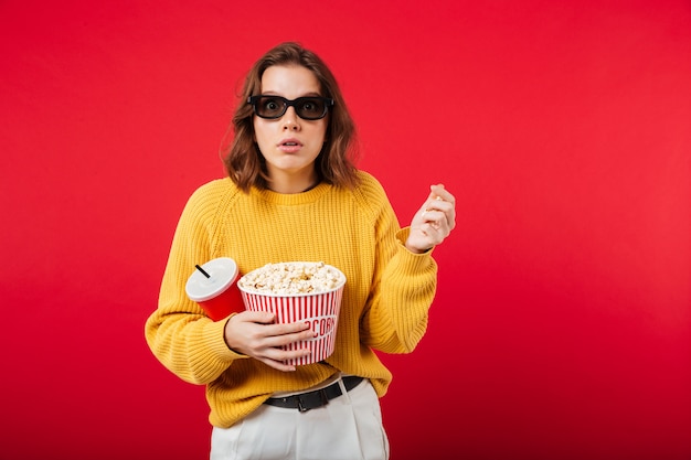
<svg viewBox="0 0 691 460"><path fill-rule="evenodd" d="M422 254L440 244L456 226L456 199L443 184L432 185L429 196L413 216L405 247Z"/></svg>

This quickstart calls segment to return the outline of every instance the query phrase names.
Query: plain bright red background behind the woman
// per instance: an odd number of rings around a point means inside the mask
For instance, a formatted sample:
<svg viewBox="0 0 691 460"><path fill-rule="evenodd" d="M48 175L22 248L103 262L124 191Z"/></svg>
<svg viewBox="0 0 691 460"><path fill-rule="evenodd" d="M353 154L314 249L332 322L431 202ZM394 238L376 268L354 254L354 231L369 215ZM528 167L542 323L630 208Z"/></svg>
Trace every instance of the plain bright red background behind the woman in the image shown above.
<svg viewBox="0 0 691 460"><path fill-rule="evenodd" d="M202 459L151 355L244 73L317 51L403 224L458 200L392 460L691 458L689 1L0 2L2 459Z"/></svg>

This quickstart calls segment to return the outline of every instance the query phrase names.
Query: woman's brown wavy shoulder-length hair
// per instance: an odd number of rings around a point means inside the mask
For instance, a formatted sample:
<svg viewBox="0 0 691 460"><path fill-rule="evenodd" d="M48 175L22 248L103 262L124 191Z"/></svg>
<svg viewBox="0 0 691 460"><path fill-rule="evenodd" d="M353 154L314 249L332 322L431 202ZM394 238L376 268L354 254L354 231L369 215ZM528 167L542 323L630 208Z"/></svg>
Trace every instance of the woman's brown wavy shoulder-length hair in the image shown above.
<svg viewBox="0 0 691 460"><path fill-rule="evenodd" d="M261 94L264 71L273 65L306 67L319 81L321 96L333 99L328 115L326 141L316 160L316 171L320 182L353 189L358 184L354 167L355 125L329 67L317 54L294 42L281 43L269 50L254 64L245 78L238 106L228 127L227 135L232 133L233 140L221 151L228 176L244 192L248 192L253 185L259 189L268 186L266 162L254 140L255 115L252 105L246 104L246 100L249 96Z"/></svg>

